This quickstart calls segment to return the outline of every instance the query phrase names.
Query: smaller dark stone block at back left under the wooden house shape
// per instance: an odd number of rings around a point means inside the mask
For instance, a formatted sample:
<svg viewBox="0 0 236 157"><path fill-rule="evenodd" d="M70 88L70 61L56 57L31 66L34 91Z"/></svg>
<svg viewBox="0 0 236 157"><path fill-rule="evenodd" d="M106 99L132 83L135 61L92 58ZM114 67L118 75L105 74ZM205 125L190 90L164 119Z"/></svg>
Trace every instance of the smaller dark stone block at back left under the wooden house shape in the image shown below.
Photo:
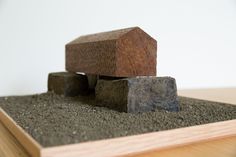
<svg viewBox="0 0 236 157"><path fill-rule="evenodd" d="M69 97L88 93L88 80L85 75L57 72L48 75L48 91Z"/></svg>

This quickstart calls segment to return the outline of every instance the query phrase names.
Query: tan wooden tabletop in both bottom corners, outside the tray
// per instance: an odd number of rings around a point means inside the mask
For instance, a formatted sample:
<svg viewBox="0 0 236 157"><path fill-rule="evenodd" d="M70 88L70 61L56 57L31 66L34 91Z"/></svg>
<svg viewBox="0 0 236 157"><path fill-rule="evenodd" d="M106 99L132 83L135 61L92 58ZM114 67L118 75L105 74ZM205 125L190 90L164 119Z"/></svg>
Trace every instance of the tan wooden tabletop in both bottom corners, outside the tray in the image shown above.
<svg viewBox="0 0 236 157"><path fill-rule="evenodd" d="M152 150L134 153L127 157L235 157L236 136L218 140L199 142L164 150ZM1 157L29 157L23 146L0 122L0 156Z"/></svg>

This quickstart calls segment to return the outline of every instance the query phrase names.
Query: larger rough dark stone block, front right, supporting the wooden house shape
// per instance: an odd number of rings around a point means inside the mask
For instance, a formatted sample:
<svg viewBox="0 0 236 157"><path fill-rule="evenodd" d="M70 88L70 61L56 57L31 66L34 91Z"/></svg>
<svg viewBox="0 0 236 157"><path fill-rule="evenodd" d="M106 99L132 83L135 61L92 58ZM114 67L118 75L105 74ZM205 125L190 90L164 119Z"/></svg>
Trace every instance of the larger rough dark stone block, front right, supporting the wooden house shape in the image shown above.
<svg viewBox="0 0 236 157"><path fill-rule="evenodd" d="M179 111L176 82L171 77L98 80L95 94L101 105L122 112Z"/></svg>

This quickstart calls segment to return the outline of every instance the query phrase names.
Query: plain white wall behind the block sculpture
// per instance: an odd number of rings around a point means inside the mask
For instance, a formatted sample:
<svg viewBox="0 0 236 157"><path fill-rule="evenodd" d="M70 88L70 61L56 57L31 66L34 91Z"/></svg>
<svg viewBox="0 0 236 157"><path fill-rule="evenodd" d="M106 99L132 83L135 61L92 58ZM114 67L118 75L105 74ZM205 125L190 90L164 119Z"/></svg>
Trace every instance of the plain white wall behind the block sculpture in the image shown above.
<svg viewBox="0 0 236 157"><path fill-rule="evenodd" d="M235 0L0 0L0 95L46 91L66 43L132 26L157 39L157 74L178 88L236 86Z"/></svg>

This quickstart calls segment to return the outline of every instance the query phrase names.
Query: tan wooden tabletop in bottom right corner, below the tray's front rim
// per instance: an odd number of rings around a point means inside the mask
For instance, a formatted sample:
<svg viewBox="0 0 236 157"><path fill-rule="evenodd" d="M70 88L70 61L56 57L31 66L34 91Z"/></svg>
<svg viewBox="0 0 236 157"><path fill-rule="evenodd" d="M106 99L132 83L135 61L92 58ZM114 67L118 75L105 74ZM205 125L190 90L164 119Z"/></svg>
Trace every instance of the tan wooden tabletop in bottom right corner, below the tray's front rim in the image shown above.
<svg viewBox="0 0 236 157"><path fill-rule="evenodd" d="M171 149L134 153L126 157L236 157L236 136Z"/></svg>

